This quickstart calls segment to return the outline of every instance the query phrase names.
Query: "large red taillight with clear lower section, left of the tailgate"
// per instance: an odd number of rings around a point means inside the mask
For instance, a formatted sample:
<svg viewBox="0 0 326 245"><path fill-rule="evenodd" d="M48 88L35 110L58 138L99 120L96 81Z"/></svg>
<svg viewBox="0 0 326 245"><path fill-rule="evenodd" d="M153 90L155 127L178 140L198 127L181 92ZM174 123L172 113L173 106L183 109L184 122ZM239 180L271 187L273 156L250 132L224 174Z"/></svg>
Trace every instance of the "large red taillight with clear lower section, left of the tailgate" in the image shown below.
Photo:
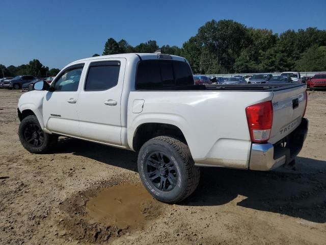
<svg viewBox="0 0 326 245"><path fill-rule="evenodd" d="M271 101L262 102L246 108L250 138L252 142L266 142L273 124Z"/></svg>

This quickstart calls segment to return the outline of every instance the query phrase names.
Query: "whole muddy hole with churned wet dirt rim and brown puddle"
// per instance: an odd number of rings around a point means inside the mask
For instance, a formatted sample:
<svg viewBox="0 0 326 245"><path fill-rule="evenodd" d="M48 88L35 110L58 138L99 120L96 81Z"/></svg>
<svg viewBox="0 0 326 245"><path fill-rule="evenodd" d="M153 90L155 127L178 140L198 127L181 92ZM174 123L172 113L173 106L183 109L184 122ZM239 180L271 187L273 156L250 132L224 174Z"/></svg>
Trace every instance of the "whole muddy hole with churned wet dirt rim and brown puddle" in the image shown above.
<svg viewBox="0 0 326 245"><path fill-rule="evenodd" d="M59 226L64 236L105 242L145 229L167 206L155 200L137 183L119 183L79 192L61 209L69 214Z"/></svg>

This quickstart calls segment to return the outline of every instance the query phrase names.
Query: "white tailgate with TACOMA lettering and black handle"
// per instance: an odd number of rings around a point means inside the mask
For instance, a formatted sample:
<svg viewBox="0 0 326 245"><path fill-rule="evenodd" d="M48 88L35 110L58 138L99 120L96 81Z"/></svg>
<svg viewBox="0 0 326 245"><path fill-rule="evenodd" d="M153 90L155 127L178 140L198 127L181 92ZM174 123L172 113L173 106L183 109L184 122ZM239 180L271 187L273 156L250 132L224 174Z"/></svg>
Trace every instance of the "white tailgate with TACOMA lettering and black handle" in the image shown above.
<svg viewBox="0 0 326 245"><path fill-rule="evenodd" d="M296 129L306 107L306 86L273 91L273 126L269 143L274 144Z"/></svg>

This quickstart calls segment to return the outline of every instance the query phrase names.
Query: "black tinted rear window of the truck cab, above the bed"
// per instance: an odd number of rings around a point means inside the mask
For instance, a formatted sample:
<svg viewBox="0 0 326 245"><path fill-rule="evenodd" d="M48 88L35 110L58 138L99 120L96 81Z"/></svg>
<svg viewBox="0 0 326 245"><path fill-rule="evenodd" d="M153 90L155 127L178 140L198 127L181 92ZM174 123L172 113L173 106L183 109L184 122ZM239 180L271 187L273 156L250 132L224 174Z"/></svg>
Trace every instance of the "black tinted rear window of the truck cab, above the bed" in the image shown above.
<svg viewBox="0 0 326 245"><path fill-rule="evenodd" d="M192 71L183 61L144 60L137 69L136 89L194 85Z"/></svg>

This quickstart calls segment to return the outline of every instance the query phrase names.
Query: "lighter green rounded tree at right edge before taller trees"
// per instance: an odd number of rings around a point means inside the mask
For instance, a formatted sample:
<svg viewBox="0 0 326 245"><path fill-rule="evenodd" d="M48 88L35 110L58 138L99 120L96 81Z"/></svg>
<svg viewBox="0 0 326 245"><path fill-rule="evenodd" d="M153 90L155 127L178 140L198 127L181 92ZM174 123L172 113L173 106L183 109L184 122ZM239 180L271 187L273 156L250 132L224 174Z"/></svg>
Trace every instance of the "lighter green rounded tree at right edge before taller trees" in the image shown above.
<svg viewBox="0 0 326 245"><path fill-rule="evenodd" d="M296 69L300 71L324 71L326 70L326 46L318 47L317 44L308 48L300 60L296 63Z"/></svg>

